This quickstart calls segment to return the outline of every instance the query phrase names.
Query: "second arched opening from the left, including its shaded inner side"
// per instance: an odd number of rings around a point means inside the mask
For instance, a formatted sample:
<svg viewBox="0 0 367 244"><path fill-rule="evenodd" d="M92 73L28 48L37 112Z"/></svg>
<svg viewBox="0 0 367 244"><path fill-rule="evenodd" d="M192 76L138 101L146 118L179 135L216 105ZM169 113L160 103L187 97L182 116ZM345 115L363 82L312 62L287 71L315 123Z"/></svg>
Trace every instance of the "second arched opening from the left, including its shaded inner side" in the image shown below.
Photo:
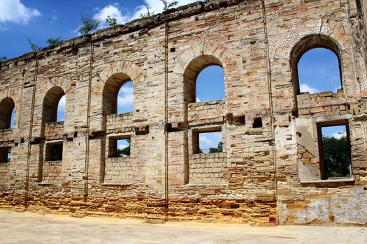
<svg viewBox="0 0 367 244"><path fill-rule="evenodd" d="M66 98L62 88L55 86L50 89L43 100L43 123L64 121L65 105Z"/></svg>

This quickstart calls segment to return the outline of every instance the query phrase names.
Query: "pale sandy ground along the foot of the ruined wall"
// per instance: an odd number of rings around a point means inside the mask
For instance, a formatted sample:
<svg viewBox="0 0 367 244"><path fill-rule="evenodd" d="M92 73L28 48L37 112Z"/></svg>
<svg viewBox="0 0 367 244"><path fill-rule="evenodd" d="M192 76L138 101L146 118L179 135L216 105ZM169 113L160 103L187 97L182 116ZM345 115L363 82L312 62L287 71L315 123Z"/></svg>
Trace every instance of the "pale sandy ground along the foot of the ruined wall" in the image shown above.
<svg viewBox="0 0 367 244"><path fill-rule="evenodd" d="M71 218L0 211L0 243L367 243L361 227L249 227L246 224Z"/></svg>

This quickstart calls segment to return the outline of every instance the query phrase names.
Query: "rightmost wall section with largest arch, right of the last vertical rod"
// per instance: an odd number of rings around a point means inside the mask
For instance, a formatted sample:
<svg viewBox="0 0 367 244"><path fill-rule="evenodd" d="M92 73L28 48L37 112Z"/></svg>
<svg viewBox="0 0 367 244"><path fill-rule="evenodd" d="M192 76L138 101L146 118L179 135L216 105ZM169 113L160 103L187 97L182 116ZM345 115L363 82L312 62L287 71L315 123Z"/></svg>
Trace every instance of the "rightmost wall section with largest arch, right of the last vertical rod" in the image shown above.
<svg viewBox="0 0 367 244"><path fill-rule="evenodd" d="M366 132L358 129L365 120L366 73L356 73L364 60L354 42L357 30L350 22L357 11L355 3L301 1L294 6L294 1L284 1L279 11L280 3L266 1L280 224L366 224L366 148L361 145ZM290 21L279 22L280 13ZM292 55L296 54L292 50L300 44L307 47L301 40L312 34L320 37L319 43L328 37L338 45L343 91L294 96ZM342 119L350 126L352 179L320 181L317 163L297 160L297 151L303 147L318 161L317 123Z"/></svg>

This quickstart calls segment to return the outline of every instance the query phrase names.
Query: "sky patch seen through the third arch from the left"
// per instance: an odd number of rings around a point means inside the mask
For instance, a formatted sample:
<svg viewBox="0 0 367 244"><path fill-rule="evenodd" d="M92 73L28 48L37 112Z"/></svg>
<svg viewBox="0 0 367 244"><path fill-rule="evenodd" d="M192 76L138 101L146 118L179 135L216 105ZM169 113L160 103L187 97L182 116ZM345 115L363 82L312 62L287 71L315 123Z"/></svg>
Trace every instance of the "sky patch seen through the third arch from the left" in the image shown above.
<svg viewBox="0 0 367 244"><path fill-rule="evenodd" d="M117 93L117 114L133 112L134 87L133 82L125 82Z"/></svg>

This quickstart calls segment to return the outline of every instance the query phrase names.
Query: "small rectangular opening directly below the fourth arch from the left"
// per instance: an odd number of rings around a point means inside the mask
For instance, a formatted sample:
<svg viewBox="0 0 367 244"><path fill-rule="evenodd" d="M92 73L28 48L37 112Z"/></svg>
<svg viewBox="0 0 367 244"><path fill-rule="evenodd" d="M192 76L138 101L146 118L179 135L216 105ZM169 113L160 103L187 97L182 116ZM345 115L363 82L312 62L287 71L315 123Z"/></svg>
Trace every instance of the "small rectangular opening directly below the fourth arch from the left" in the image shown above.
<svg viewBox="0 0 367 244"><path fill-rule="evenodd" d="M198 132L196 153L222 153L222 131Z"/></svg>

